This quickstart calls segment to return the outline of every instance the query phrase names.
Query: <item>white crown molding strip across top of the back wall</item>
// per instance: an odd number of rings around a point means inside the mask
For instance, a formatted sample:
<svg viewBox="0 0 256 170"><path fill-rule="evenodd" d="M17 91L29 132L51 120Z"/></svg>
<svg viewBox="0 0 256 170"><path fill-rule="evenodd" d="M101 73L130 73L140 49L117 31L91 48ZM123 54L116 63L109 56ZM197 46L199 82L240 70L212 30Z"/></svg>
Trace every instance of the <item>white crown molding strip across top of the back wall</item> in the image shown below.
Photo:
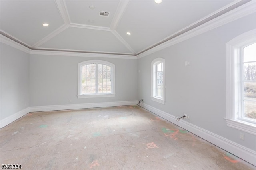
<svg viewBox="0 0 256 170"><path fill-rule="evenodd" d="M84 52L66 52L66 51L45 51L32 50L30 54L37 55L60 55L60 56L76 56L76 57L100 57L100 58L119 58L119 59L137 59L134 55L118 55L118 54L100 54L100 53L84 53Z"/></svg>

